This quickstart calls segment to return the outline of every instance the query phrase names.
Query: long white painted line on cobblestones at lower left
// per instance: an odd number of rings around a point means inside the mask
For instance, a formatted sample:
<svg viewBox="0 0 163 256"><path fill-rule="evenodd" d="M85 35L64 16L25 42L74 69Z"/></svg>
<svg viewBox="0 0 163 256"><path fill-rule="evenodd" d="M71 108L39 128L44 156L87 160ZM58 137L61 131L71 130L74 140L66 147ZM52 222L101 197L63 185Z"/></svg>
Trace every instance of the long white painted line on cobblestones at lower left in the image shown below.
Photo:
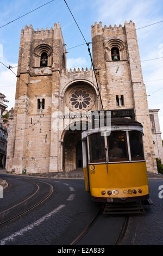
<svg viewBox="0 0 163 256"><path fill-rule="evenodd" d="M62 208L64 208L66 205L61 204L59 205L56 209L54 209L53 211L49 212L49 214L43 216L42 218L39 218L39 220L35 221L34 223L28 225L27 227L24 227L23 229L15 232L14 234L5 237L4 239L2 239L0 241L0 245L5 245L6 242L9 241L14 241L16 239L17 236L21 236L24 235L24 233L26 233L28 230L37 227L38 225L40 225L43 221L47 220L49 217L51 217L53 214L57 214L57 212L59 212Z"/></svg>

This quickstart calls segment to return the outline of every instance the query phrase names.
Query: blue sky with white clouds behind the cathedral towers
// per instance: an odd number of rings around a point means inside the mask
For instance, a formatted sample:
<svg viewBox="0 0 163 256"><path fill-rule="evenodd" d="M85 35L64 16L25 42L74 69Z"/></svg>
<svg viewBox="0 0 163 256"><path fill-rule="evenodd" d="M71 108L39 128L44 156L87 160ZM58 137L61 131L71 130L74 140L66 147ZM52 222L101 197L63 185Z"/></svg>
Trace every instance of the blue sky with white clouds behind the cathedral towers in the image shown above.
<svg viewBox="0 0 163 256"><path fill-rule="evenodd" d="M49 0L0 0L0 27ZM67 0L74 17L87 41L91 41L91 25L102 21L102 25L124 26L124 21L132 20L136 28L163 20L163 0ZM54 22L60 22L66 48L83 44L64 0L55 0L44 7L0 28L0 61L7 66L16 66L21 29L32 24L34 29L50 29ZM143 80L146 84L149 109L160 109L159 120L163 132L163 22L137 30L141 60L160 58L142 62ZM79 46L67 50L67 68L90 68L87 47ZM17 72L16 68L13 69ZM162 80L161 80L162 79ZM154 81L153 81L154 80ZM162 88L162 89L161 89ZM8 109L14 107L16 76L0 64L0 92L5 94ZM158 92L156 92L158 90ZM162 135L163 138L163 135Z"/></svg>

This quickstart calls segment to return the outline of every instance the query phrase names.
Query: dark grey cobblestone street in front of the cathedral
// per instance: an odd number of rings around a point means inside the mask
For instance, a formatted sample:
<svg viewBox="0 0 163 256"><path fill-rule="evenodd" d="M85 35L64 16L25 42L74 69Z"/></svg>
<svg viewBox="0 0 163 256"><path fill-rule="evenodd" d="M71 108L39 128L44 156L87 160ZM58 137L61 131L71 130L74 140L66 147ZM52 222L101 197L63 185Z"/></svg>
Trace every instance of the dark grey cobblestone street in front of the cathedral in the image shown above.
<svg viewBox="0 0 163 256"><path fill-rule="evenodd" d="M92 202L89 194L85 192L83 179L39 179L21 176L18 178L18 176L3 174L1 176L11 184L4 192L4 198L1 199L1 212L35 193L35 184L39 181L47 182L54 188L52 196L44 203L20 218L3 225L0 231L1 245L70 245L99 211L99 205ZM160 179L149 178L149 191L153 205L145 206L146 214L129 216L123 245L163 244L161 235L163 199L158 197L158 187L163 185L162 181L162 176ZM23 187L27 189L24 190ZM42 192L35 200L43 195L46 186L43 187L40 187ZM24 204L24 208L28 204ZM122 223L123 216L100 218L92 229L93 233L88 233L83 243L112 245ZM98 235L94 236L95 233ZM79 244L81 243L82 241Z"/></svg>

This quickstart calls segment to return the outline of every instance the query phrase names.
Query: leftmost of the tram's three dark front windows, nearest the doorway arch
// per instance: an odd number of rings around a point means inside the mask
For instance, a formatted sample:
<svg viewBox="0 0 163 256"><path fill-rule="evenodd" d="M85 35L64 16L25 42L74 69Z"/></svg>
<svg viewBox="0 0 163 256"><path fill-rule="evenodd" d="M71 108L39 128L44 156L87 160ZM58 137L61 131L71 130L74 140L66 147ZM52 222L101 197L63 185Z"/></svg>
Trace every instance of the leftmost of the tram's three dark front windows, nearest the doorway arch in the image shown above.
<svg viewBox="0 0 163 256"><path fill-rule="evenodd" d="M92 162L105 162L105 143L101 133L93 133L90 138L90 160Z"/></svg>

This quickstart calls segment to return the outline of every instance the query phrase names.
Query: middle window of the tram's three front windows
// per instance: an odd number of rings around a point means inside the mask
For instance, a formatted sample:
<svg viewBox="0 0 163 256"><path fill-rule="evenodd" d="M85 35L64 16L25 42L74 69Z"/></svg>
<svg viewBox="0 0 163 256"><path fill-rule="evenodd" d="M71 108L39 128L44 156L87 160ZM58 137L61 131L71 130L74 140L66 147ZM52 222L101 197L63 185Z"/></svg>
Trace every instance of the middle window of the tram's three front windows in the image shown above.
<svg viewBox="0 0 163 256"><path fill-rule="evenodd" d="M128 161L126 131L112 131L108 136L109 161Z"/></svg>

